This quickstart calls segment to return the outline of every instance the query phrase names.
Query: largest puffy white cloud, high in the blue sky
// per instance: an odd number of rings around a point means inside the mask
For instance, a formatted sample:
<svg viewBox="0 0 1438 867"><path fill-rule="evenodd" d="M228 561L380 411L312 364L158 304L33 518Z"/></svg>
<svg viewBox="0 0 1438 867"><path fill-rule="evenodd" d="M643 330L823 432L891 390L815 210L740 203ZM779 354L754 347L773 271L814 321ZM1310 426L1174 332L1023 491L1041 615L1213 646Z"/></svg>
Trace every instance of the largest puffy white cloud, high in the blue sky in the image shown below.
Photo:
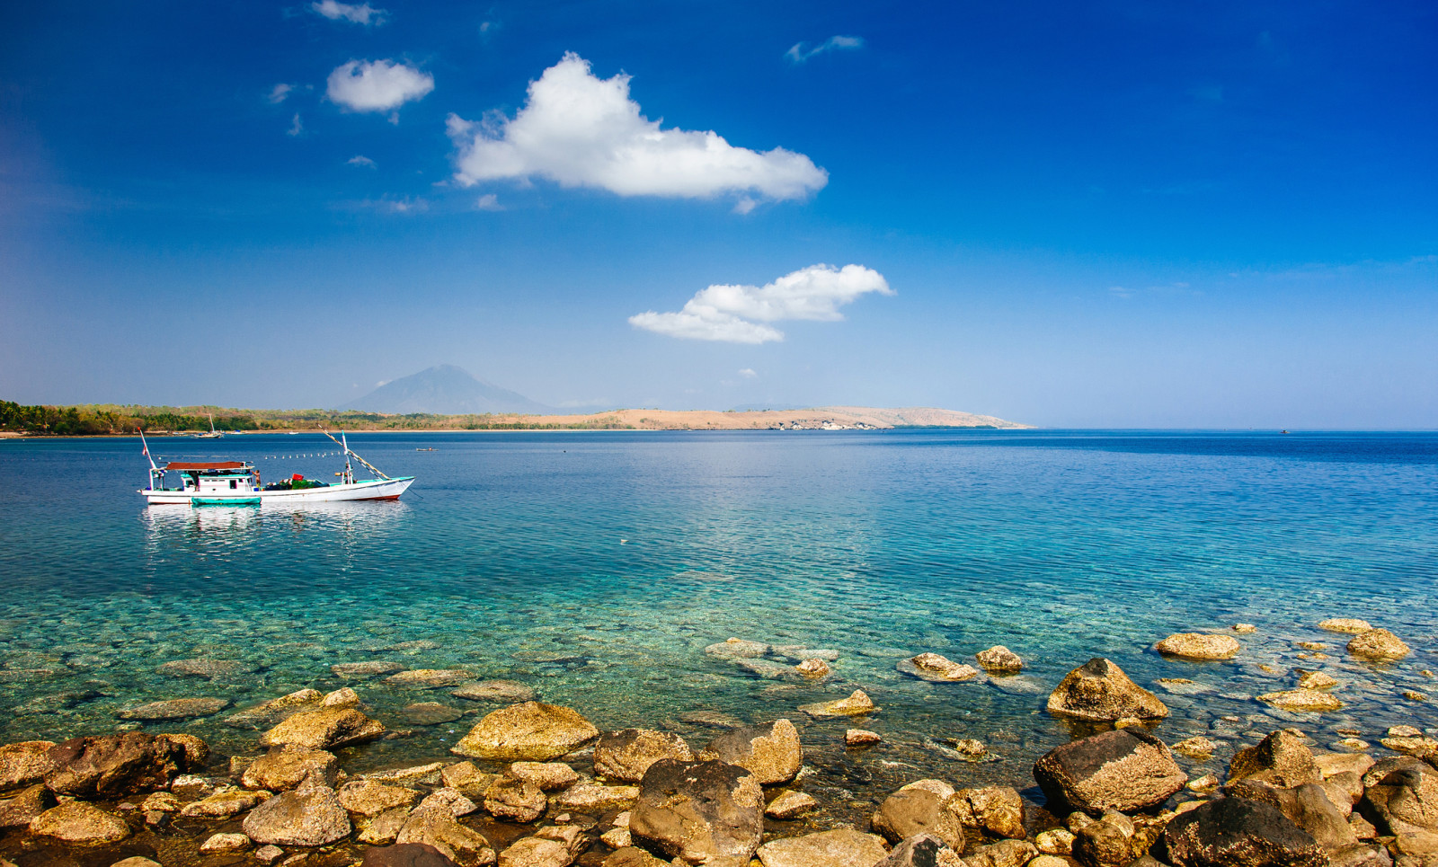
<svg viewBox="0 0 1438 867"><path fill-rule="evenodd" d="M588 60L567 53L529 83L513 118L472 124L450 115L463 185L532 177L620 196L710 197L752 193L805 198L828 173L784 148L751 151L716 132L660 128L630 99L627 75L600 79Z"/></svg>

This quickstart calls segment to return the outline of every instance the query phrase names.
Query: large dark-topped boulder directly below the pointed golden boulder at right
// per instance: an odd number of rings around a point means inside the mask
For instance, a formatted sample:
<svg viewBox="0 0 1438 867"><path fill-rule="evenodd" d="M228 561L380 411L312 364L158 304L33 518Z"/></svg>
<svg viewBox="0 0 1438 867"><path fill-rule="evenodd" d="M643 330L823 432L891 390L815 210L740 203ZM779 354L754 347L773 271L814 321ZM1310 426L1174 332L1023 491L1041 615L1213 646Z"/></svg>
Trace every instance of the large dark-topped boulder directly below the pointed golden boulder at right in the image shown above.
<svg viewBox="0 0 1438 867"><path fill-rule="evenodd" d="M1127 728L1048 751L1034 763L1034 779L1050 801L1099 815L1163 804L1188 782L1162 740Z"/></svg>

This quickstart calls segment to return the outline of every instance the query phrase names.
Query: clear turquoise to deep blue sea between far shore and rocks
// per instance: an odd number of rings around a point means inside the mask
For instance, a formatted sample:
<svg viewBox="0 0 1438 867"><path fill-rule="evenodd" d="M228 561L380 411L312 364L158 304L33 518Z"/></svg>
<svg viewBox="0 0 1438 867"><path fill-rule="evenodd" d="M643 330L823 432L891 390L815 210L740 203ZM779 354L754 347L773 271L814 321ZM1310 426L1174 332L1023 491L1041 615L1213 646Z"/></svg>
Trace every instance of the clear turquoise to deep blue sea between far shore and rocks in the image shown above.
<svg viewBox="0 0 1438 867"><path fill-rule="evenodd" d="M119 728L183 730L253 753L226 716L296 689L355 687L403 736L348 751L377 768L436 761L496 705L331 666L393 661L506 679L603 729L664 728L702 746L715 722L801 726L807 785L863 804L919 776L1031 785L1081 728L1048 692L1091 657L1173 710L1153 726L1238 746L1294 726L1326 745L1438 725L1438 434L1214 431L726 431L352 434L417 482L394 503L145 508L138 440L0 440L0 740ZM433 450L420 450L433 449ZM319 434L158 439L161 459L256 462L266 480L339 469ZM1360 617L1414 647L1373 666L1324 633ZM1228 631L1225 663L1165 659L1175 631ZM706 647L778 646L758 664ZM1299 643L1323 647L1300 647ZM897 664L974 663L1018 677L940 684ZM810 683L788 667L831 651ZM1301 654L1301 656L1300 656ZM173 677L175 660L239 663ZM1342 682L1336 713L1255 696L1294 669ZM1185 683L1186 682L1186 683ZM800 705L863 689L880 710ZM1419 692L1431 702L1402 697ZM230 707L127 722L175 697ZM416 725L404 707L464 713ZM846 751L848 726L884 743ZM988 745L984 761L953 739ZM1201 768L1202 769L1202 768ZM856 808L857 809L857 808Z"/></svg>

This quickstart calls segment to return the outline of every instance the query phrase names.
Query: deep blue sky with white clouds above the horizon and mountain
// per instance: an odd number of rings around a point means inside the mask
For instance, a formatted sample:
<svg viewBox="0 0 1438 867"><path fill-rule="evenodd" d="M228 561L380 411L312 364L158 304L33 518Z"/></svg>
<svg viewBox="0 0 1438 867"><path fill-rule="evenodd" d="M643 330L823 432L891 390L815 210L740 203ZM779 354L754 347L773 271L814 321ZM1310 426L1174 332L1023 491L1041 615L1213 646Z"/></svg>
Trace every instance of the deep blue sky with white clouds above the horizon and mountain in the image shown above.
<svg viewBox="0 0 1438 867"><path fill-rule="evenodd" d="M1431 4L6 4L0 35L7 400L338 405L452 362L552 405L1438 427Z"/></svg>

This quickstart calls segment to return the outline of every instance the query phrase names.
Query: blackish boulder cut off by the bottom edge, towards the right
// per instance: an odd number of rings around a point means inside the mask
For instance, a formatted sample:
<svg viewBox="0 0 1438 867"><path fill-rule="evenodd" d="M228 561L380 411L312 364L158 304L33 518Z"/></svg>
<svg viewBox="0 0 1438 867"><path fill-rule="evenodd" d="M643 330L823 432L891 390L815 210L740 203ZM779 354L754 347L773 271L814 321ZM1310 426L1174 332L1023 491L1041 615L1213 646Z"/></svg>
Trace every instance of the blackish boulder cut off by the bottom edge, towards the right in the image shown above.
<svg viewBox="0 0 1438 867"><path fill-rule="evenodd" d="M1219 798L1182 812L1163 830L1175 867L1329 867L1327 853L1268 804Z"/></svg>

